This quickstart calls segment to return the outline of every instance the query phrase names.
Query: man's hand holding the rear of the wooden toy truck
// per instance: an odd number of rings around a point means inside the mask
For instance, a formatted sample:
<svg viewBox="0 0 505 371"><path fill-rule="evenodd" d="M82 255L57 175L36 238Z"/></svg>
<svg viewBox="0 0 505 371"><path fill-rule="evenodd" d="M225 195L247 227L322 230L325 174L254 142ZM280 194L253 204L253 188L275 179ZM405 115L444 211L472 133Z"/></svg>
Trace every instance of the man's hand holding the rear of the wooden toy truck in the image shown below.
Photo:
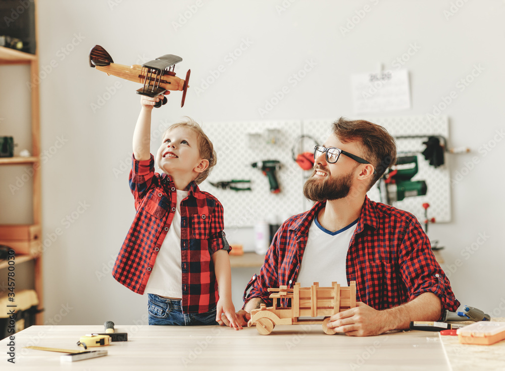
<svg viewBox="0 0 505 371"><path fill-rule="evenodd" d="M394 324L388 312L357 302L355 308L333 314L326 327L349 336L373 336L393 330Z"/></svg>

